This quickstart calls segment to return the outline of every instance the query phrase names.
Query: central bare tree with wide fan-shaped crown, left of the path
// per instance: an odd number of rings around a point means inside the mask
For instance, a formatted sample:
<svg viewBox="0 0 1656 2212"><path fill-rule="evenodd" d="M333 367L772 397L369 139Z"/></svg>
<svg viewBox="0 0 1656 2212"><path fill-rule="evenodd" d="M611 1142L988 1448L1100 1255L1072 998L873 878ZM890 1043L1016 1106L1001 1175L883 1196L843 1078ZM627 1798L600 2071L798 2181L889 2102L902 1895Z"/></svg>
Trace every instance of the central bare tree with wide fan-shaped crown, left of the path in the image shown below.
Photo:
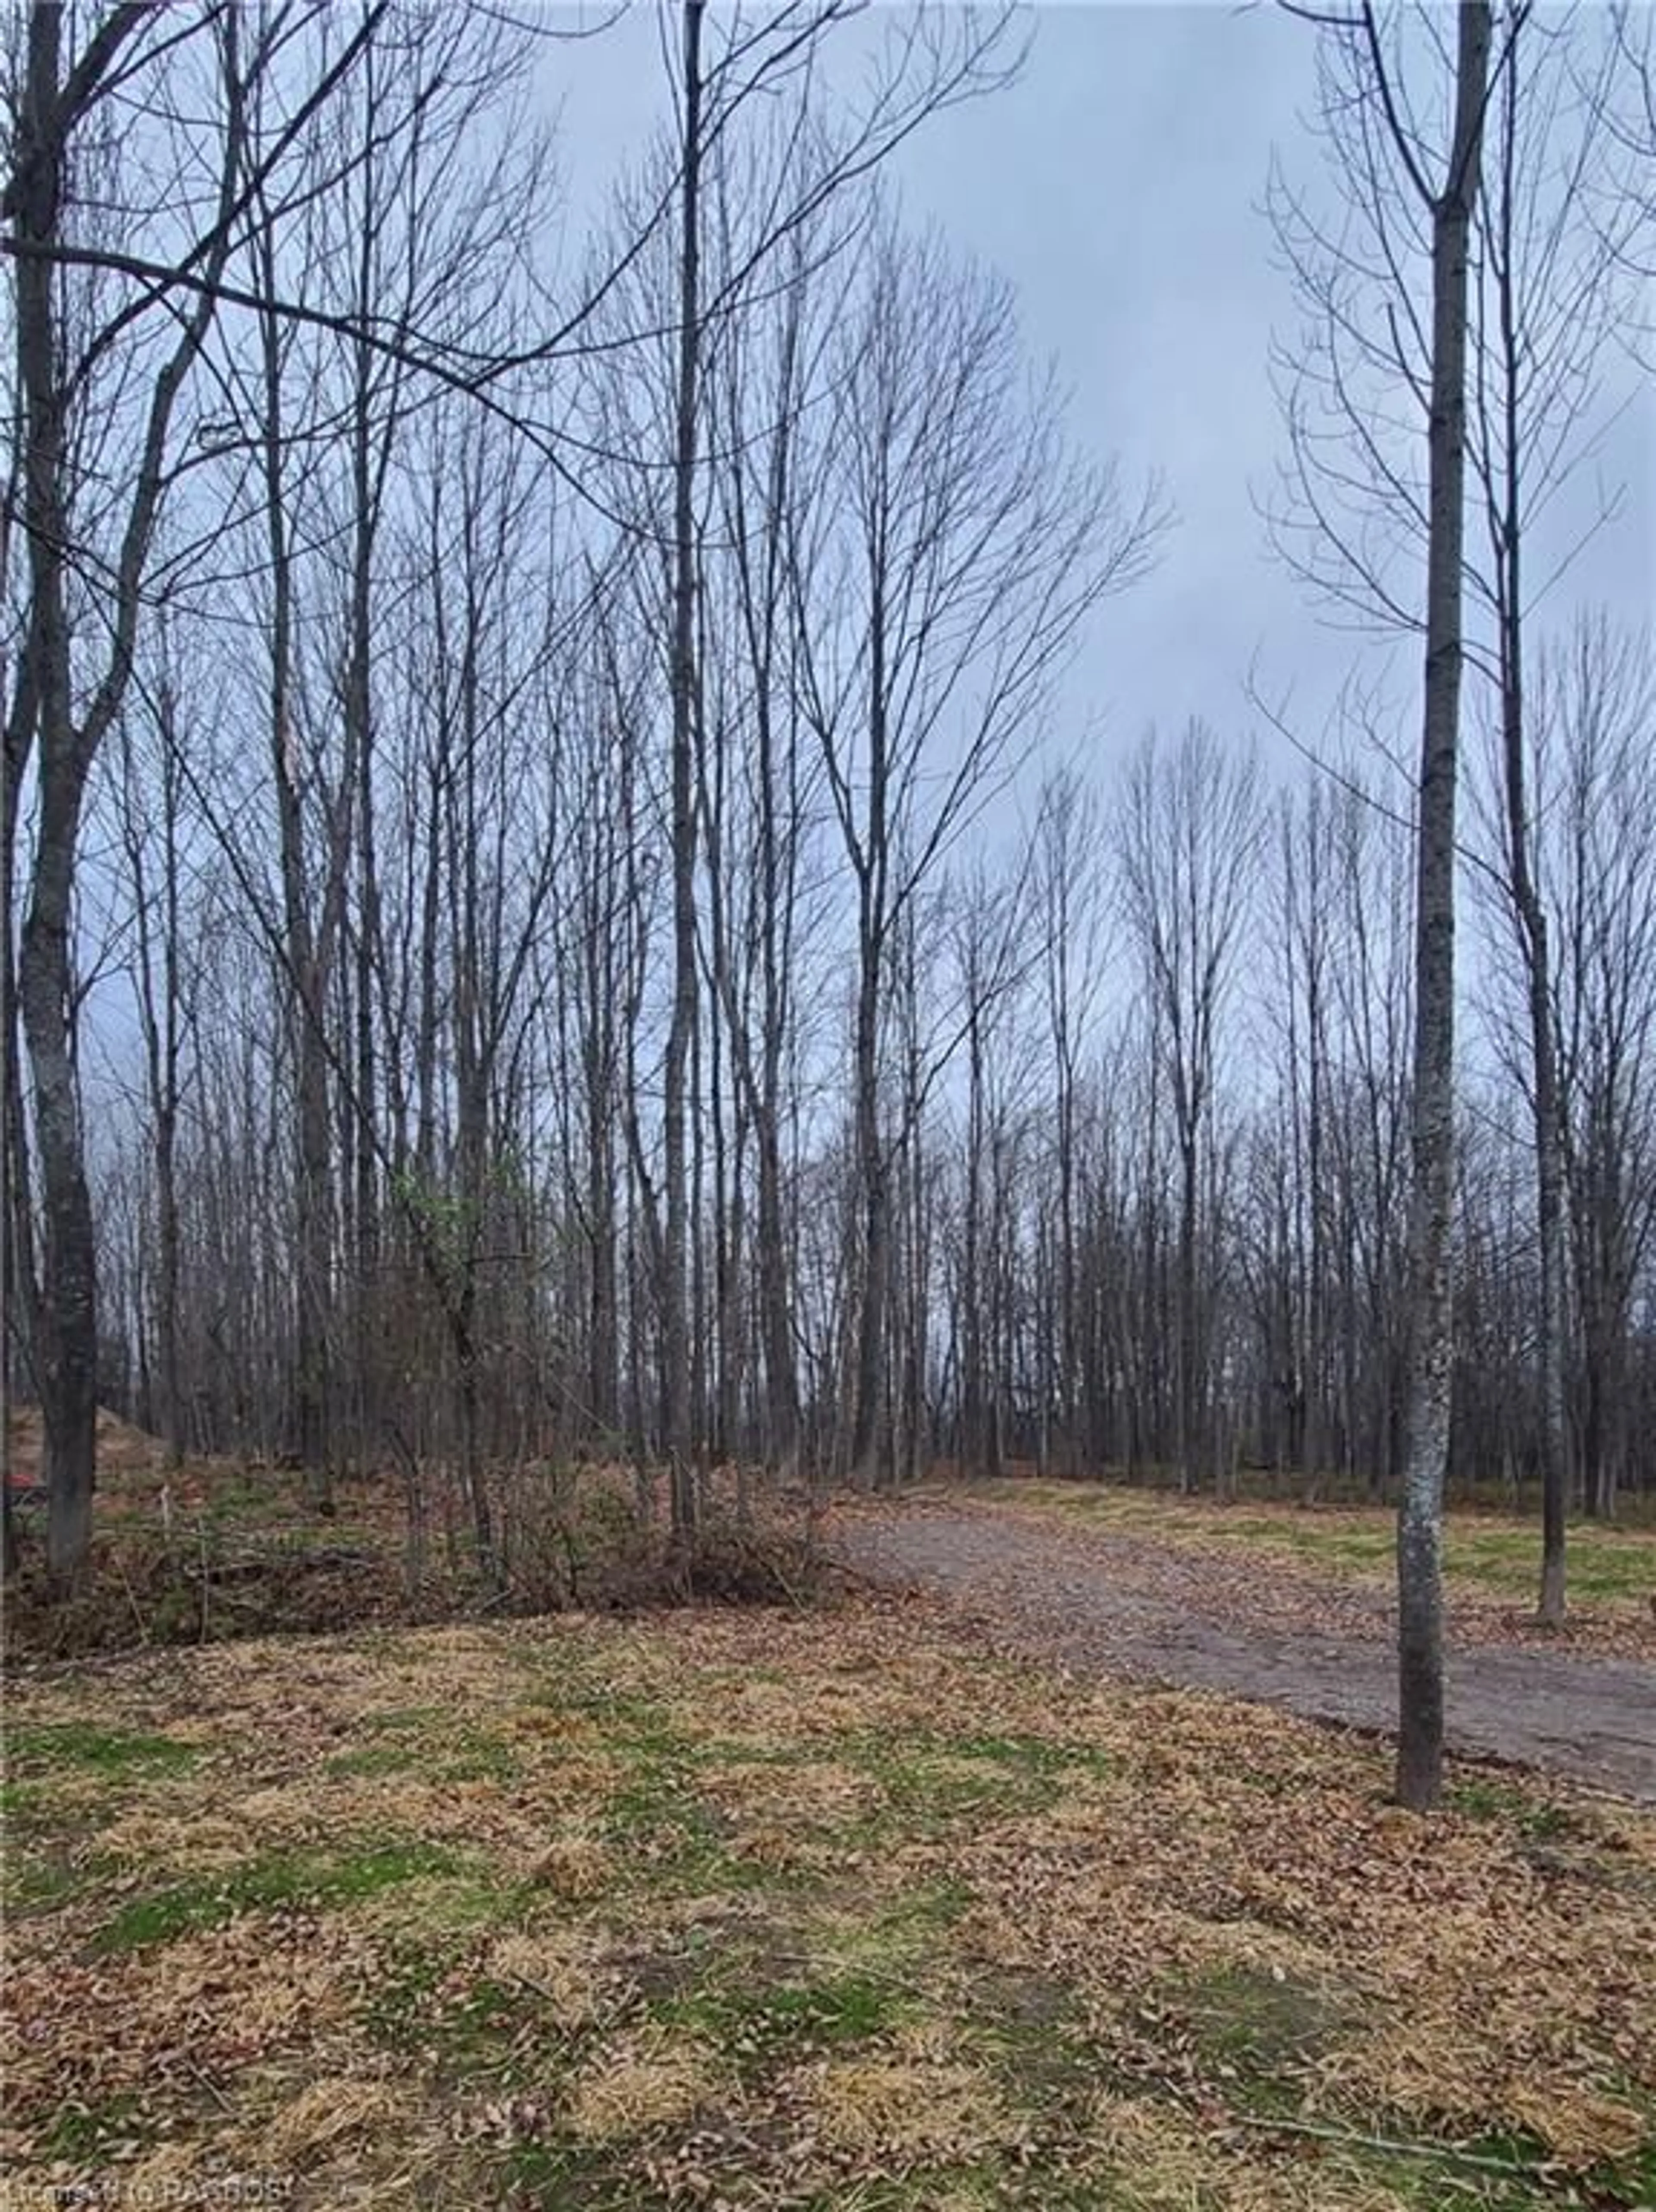
<svg viewBox="0 0 1656 2212"><path fill-rule="evenodd" d="M805 714L856 883L851 1035L860 1259L849 1464L889 1467L891 1150L880 1029L904 907L1028 745L1079 624L1143 568L1154 495L1063 453L1019 392L1006 290L884 221L845 316L825 478L794 591ZM933 768L940 759L948 765Z"/></svg>

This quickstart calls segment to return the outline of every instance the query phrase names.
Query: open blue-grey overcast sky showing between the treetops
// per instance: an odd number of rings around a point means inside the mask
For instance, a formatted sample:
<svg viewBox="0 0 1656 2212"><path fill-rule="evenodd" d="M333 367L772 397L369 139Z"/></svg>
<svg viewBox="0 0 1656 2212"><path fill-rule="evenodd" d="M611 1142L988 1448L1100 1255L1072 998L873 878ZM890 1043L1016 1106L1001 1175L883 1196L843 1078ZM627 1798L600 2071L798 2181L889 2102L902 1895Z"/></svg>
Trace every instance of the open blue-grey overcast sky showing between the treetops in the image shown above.
<svg viewBox="0 0 1656 2212"><path fill-rule="evenodd" d="M1161 471L1178 511L1156 573L1094 619L1061 743L1108 763L1152 719L1174 730L1187 714L1245 737L1258 728L1249 666L1274 699L1293 690L1296 721L1316 739L1369 648L1331 630L1267 557L1254 504L1285 449L1271 332L1298 327L1260 201L1274 150L1296 181L1316 173L1302 122L1316 33L1271 7L1172 0L1044 4L1033 27L1021 80L929 124L895 177L915 219L1015 283L1028 347L1057 361L1081 442L1119 456L1130 482ZM586 201L663 113L654 7L635 4L590 42L559 42L546 75L562 88L564 164ZM1638 392L1632 376L1627 389ZM1654 456L1656 400L1638 392L1601 462L1627 484L1621 520L1548 615L1568 617L1583 597L1649 613ZM1400 708L1413 703L1417 648L1393 650L1391 688ZM1291 757L1274 739L1267 752Z"/></svg>

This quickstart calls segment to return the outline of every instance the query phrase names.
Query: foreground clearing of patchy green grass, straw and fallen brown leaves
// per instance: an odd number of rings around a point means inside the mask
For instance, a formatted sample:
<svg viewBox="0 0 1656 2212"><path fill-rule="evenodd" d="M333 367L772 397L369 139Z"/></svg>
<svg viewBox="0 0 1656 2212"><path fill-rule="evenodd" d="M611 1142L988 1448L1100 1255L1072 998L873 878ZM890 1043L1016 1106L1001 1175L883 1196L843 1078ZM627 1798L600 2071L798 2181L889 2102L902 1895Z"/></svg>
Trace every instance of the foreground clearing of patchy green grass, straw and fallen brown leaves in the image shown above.
<svg viewBox="0 0 1656 2212"><path fill-rule="evenodd" d="M926 1528L1081 1588L1070 1522ZM7 1752L29 2212L1656 2203L1656 1820L1415 1818L940 1597L38 1663Z"/></svg>

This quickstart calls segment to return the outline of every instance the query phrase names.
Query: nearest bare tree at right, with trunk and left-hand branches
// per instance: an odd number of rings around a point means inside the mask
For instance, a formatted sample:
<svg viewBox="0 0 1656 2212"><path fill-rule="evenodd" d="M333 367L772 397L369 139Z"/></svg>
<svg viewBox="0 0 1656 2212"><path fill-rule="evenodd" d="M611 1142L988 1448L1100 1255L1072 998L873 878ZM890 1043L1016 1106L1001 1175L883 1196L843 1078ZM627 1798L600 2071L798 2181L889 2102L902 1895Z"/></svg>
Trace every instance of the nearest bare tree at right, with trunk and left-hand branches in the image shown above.
<svg viewBox="0 0 1656 2212"><path fill-rule="evenodd" d="M1521 15L1521 9L1519 9ZM1468 259L1490 97L1492 11L1461 0L1455 55L1424 24L1437 106L1433 166L1402 29L1366 4L1316 15L1320 113L1338 188L1371 257L1278 188L1278 237L1318 310L1311 367L1285 385L1289 509L1276 540L1338 604L1424 633L1415 794L1411 1356L1397 1522L1397 1794L1435 1803L1444 1745L1442 1506L1453 1387L1455 796L1466 591ZM1448 100L1444 102L1444 88ZM1428 296L1422 279L1428 270ZM1353 374L1355 352L1355 374ZM1397 394L1424 420L1395 422ZM1353 458L1355 456L1355 458ZM1397 553L1424 551L1419 602Z"/></svg>

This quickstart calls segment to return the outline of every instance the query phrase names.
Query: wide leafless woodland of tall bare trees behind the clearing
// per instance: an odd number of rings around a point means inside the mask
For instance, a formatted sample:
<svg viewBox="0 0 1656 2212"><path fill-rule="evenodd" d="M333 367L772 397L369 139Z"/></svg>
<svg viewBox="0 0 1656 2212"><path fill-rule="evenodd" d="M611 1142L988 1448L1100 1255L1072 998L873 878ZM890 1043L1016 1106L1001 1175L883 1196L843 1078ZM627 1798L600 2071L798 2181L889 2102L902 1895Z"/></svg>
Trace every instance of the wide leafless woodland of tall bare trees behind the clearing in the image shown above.
<svg viewBox="0 0 1656 2212"><path fill-rule="evenodd" d="M20 31L7 1363L64 1462L95 1387L318 1500L449 1467L484 1555L482 1469L577 1449L685 1517L721 1460L1393 1482L1386 719L1289 779L1176 670L1125 761L1063 726L1161 504L880 181L1006 27L902 18L845 93L851 13L681 11L575 310L491 11ZM1495 624L1468 679L1453 1464L1539 1478L1550 1298L1612 1511L1656 1482L1656 692L1548 613L1517 841Z"/></svg>

